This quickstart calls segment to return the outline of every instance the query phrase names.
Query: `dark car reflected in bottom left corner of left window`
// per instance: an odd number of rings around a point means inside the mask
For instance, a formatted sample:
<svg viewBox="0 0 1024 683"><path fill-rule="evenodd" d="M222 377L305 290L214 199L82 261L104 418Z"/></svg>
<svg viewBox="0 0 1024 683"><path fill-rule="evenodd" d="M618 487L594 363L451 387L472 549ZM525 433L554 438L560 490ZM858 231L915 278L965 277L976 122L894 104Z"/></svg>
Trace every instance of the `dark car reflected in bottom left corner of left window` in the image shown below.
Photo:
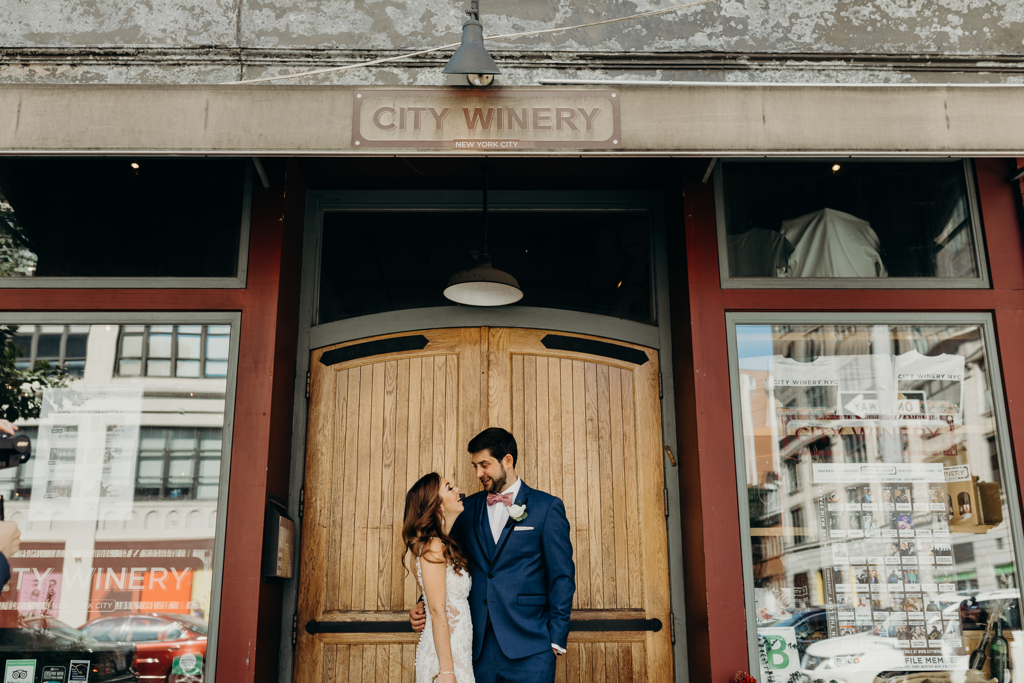
<svg viewBox="0 0 1024 683"><path fill-rule="evenodd" d="M134 645L102 643L48 616L11 617L9 624L0 622L0 659L35 659L37 677L46 667L67 672L69 662L79 659L89 662L89 671L79 672L88 676L89 683L138 680L132 667Z"/></svg>

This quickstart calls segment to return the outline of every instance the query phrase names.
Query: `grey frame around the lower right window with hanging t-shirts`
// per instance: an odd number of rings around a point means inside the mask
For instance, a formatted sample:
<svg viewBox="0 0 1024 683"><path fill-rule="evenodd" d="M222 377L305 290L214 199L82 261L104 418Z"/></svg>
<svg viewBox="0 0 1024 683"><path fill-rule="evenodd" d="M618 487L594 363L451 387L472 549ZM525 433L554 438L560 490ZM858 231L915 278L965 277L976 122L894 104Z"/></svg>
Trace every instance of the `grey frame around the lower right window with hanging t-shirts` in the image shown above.
<svg viewBox="0 0 1024 683"><path fill-rule="evenodd" d="M736 494L739 503L739 540L743 577L743 602L746 617L746 650L750 671L760 671L757 647L757 604L754 597L753 544L750 541L750 507L746 496L746 464L743 452L743 425L740 404L739 364L736 328L739 325L947 325L975 324L981 327L985 345L987 383L993 403L993 433L999 452L999 475L1004 481L1005 496L1014 547L1010 549L1018 571L1024 557L1024 531L1020 494L1015 473L1016 460L1010 438L1010 417L1007 414L1002 392L1001 363L995 335L995 321L991 313L863 313L863 312L726 312L726 342L729 363L729 390L732 398L733 456L736 467ZM1019 579L1018 579L1019 580Z"/></svg>

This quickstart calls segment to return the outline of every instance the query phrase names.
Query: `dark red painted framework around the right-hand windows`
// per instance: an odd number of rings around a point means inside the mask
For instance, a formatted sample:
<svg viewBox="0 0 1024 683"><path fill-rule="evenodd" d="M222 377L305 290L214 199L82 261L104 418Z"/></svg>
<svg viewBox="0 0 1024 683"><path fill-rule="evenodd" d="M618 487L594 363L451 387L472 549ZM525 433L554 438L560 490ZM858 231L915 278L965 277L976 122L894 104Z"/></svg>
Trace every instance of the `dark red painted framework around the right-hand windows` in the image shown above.
<svg viewBox="0 0 1024 683"><path fill-rule="evenodd" d="M1024 481L1024 240L1013 159L975 163L990 289L722 289L715 197L699 174L684 180L685 242L674 263L673 350L690 680L726 683L746 671L739 500L732 438L725 314L732 311L990 312L1010 418L1018 488ZM685 251L685 254L681 253ZM688 316L688 320L687 320ZM688 327L686 326L688 323ZM1014 429L1016 428L1016 429ZM680 463L682 465L682 463ZM683 470L686 476L683 477ZM694 484L693 472L699 474ZM1018 500L1018 505L1020 501ZM757 671L751 672L759 676Z"/></svg>

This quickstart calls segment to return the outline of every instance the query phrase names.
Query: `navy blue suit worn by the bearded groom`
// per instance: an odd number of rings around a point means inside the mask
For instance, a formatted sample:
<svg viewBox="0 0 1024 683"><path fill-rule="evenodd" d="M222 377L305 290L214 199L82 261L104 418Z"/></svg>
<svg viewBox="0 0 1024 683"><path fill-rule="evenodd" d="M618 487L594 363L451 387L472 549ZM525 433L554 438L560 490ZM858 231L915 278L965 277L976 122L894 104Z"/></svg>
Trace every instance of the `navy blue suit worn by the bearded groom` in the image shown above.
<svg viewBox="0 0 1024 683"><path fill-rule="evenodd" d="M546 653L550 658L545 657L542 664L550 666L553 676L551 645L565 647L575 593L569 523L559 498L531 489L526 482L520 485L515 505L526 506L526 518L521 522L509 518L497 544L487 519L485 491L466 498L463 514L452 529L469 558L473 577L469 593L473 661L477 662L485 649L489 628L504 657L521 659ZM537 678L520 676L524 681L547 678L542 672L538 674ZM516 678L506 676L505 680Z"/></svg>

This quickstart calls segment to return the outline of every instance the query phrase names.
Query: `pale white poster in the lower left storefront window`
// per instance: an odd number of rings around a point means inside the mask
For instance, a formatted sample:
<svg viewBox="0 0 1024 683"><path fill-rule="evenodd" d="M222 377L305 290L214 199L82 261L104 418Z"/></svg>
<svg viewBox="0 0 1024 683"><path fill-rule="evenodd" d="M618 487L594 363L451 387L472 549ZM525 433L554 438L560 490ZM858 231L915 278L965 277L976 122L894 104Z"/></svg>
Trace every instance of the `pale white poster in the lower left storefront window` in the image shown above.
<svg viewBox="0 0 1024 683"><path fill-rule="evenodd" d="M29 519L128 519L141 415L141 387L44 390Z"/></svg>

